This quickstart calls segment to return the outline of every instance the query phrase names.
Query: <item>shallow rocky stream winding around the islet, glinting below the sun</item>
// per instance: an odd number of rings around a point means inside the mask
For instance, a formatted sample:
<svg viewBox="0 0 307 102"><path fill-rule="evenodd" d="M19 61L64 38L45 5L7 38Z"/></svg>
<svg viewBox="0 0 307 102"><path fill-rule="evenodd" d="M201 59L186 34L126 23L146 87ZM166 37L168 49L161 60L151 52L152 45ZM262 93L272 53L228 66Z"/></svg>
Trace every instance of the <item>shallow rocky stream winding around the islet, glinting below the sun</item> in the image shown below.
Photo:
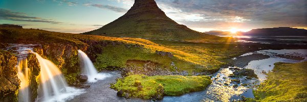
<svg viewBox="0 0 307 102"><path fill-rule="evenodd" d="M249 61L243 68L253 69L259 79L229 77L233 72L242 68L228 66L211 75L212 84L204 91L186 93L181 96L164 96L162 100L157 101L234 101L245 97L254 98L252 90L256 89L255 85L259 85L260 82L266 80L265 72L271 71L274 68L274 63L297 63L307 60L307 49L259 50L239 57L251 57L255 54L268 55L269 58ZM236 61L237 59L233 60ZM109 74L109 78L96 83L88 83L91 87L85 89L85 93L68 101L153 101L118 97L117 91L109 88L109 84L115 83L117 78L121 78L120 71L103 71L102 73ZM233 80L239 80L239 82Z"/></svg>

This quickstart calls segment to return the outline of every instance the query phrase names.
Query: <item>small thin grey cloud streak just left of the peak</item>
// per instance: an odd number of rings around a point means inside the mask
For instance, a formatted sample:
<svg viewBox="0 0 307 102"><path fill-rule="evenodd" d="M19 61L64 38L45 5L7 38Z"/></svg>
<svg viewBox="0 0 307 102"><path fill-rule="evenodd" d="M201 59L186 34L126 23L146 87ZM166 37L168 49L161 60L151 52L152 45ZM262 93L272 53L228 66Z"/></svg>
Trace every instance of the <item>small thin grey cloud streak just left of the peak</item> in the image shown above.
<svg viewBox="0 0 307 102"><path fill-rule="evenodd" d="M120 13L125 13L128 11L127 9L117 7L117 6L112 6L112 5L102 5L102 4L92 4L92 3L84 3L83 5L106 9L106 10L112 10L112 11L120 12Z"/></svg>

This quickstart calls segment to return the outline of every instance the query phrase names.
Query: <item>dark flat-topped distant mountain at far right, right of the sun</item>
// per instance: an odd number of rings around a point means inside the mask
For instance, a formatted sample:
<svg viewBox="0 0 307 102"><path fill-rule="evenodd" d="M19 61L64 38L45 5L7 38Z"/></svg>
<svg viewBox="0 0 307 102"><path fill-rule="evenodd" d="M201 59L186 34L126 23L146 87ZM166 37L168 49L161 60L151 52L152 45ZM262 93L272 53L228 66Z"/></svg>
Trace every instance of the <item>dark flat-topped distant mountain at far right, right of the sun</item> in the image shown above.
<svg viewBox="0 0 307 102"><path fill-rule="evenodd" d="M253 29L244 33L245 36L307 36L307 30L290 27Z"/></svg>

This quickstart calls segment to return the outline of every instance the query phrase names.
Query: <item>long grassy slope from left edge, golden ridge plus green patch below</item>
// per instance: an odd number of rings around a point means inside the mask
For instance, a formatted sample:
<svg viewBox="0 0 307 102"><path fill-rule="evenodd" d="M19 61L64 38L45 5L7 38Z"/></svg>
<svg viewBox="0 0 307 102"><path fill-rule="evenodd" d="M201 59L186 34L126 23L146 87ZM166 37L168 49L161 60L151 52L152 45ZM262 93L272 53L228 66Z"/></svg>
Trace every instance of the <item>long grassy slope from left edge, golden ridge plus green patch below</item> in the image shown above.
<svg viewBox="0 0 307 102"><path fill-rule="evenodd" d="M124 45L139 45L142 46L143 48L143 49L124 48L123 46L118 46L118 45L107 46L105 48L102 48L104 52L100 55L98 54L101 57L99 57L99 59L96 59L96 61L98 61L97 62L98 64L96 65L99 68L103 68L106 66L123 67L124 65L123 63L126 60L134 60L134 59L159 62L159 64L163 64L166 67L169 66L167 64L169 64L170 61L175 61L178 63L178 67L180 67L180 69L187 69L187 70L197 69L197 71L202 71L202 72L203 71L215 72L223 64L222 62L217 61L214 57L211 56L206 56L206 58L204 59L199 56L185 53L182 50L168 48L166 46L161 46L160 44L157 44L155 42L140 38L116 38L116 37L104 37L97 35L57 33L57 32L49 32L49 31L36 30L36 29L0 29L0 38L4 39L1 42L5 43L32 43L32 44L58 43L59 45L71 44L77 46L79 49L86 49L86 47L90 46L92 42L99 42L99 41L121 42ZM154 54L156 50L163 52L171 52L174 55L174 58L168 59L168 58L158 57L157 55ZM129 55L126 53L128 53ZM120 58L122 59L122 61L117 61L118 59L116 58ZM107 60L109 62L102 60ZM195 68L194 66L198 66L201 68Z"/></svg>

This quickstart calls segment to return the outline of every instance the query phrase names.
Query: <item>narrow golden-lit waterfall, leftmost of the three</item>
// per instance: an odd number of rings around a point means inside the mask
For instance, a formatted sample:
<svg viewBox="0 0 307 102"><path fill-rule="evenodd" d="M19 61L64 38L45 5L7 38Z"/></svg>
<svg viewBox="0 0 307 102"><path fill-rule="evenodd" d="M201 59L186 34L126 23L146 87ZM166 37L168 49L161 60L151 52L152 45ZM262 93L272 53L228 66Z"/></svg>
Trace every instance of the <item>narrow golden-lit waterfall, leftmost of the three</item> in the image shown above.
<svg viewBox="0 0 307 102"><path fill-rule="evenodd" d="M29 102L30 101L30 86L29 86L29 69L28 60L26 57L18 58L16 65L18 74L17 77L20 79L20 88L18 89L18 101Z"/></svg>

